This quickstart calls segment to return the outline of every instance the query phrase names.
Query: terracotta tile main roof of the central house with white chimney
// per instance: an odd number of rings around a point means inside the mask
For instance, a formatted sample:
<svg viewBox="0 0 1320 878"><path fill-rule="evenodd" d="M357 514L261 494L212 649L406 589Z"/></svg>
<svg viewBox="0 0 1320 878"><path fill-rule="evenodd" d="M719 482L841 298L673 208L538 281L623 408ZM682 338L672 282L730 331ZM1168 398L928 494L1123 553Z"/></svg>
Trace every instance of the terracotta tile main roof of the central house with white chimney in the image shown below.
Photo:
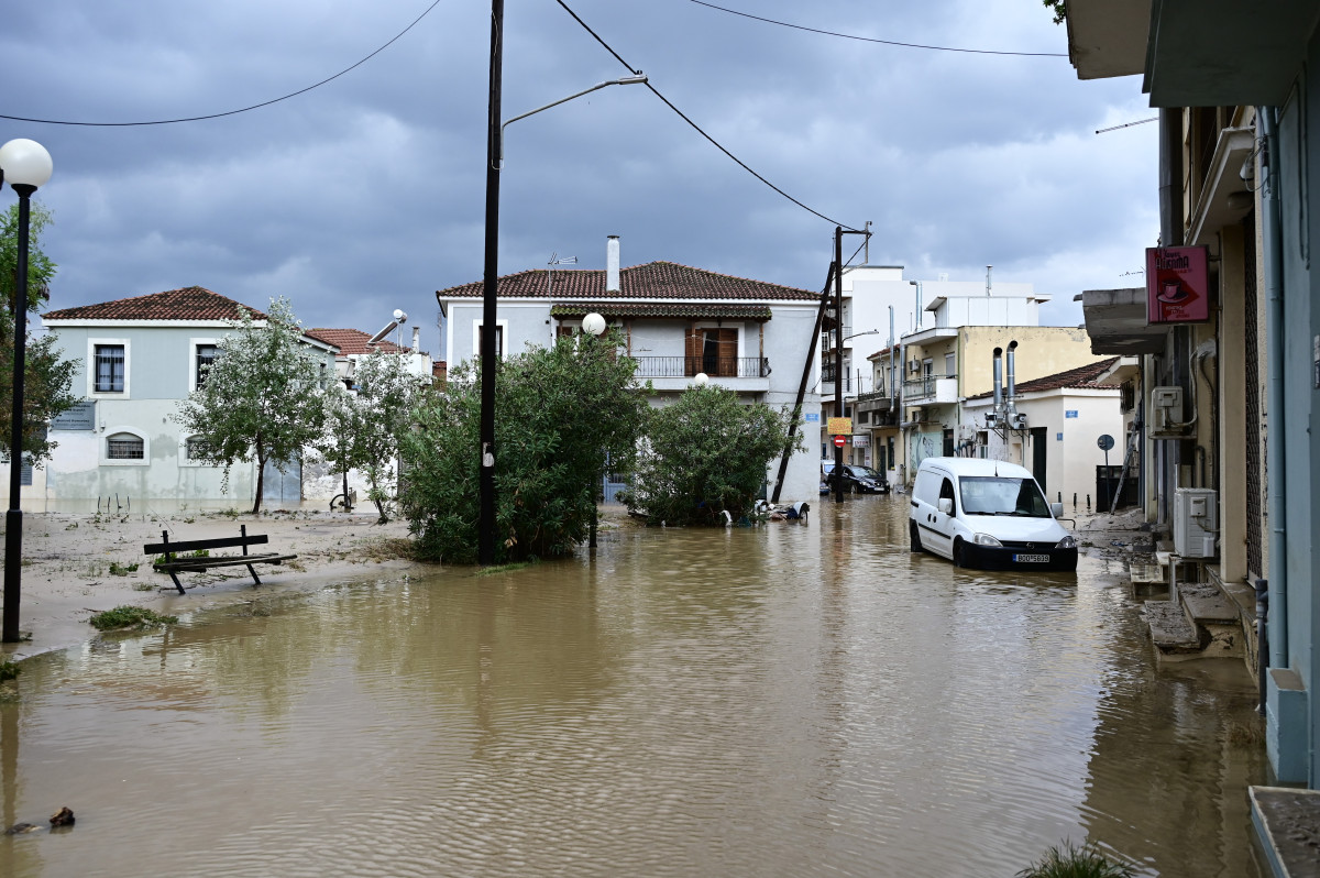
<svg viewBox="0 0 1320 878"><path fill-rule="evenodd" d="M552 287L553 283L553 287ZM436 292L436 298L480 298L482 281ZM605 292L605 269L557 269L553 281L545 268L499 279L498 294L507 298L725 298L741 301L818 301L820 293L746 277L719 275L677 263L655 261L619 272L619 290Z"/></svg>

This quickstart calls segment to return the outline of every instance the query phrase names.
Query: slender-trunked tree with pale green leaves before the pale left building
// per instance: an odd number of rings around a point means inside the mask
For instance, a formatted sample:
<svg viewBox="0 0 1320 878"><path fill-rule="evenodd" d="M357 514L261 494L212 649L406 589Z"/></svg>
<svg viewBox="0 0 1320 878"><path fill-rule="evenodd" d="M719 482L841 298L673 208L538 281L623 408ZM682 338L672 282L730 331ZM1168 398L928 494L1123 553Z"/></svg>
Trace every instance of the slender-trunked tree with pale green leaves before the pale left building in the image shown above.
<svg viewBox="0 0 1320 878"><path fill-rule="evenodd" d="M235 317L236 331L220 339L206 383L174 420L206 437L197 456L224 467L226 489L235 463L256 461L256 514L267 461L292 461L321 436L325 370L284 298L271 302L265 325L243 308Z"/></svg>

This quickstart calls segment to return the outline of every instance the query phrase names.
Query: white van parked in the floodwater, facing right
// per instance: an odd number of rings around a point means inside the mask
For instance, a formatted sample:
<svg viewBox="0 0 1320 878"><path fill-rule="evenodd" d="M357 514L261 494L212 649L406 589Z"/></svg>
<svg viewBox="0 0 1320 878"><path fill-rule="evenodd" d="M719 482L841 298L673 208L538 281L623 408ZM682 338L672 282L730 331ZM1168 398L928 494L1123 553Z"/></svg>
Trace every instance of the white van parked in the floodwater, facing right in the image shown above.
<svg viewBox="0 0 1320 878"><path fill-rule="evenodd" d="M928 457L912 486L908 531L913 552L958 566L1076 570L1077 541L1031 473L1015 463Z"/></svg>

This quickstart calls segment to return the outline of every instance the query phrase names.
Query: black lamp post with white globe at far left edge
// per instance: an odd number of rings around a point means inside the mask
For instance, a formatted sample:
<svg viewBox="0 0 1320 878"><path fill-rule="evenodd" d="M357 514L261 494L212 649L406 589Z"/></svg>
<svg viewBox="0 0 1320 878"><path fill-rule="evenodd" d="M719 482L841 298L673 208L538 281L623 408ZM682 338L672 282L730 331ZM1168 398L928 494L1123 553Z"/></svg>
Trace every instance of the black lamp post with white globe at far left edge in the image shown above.
<svg viewBox="0 0 1320 878"><path fill-rule="evenodd" d="M0 640L17 643L18 594L22 586L22 391L28 346L28 224L29 201L50 180L54 166L46 148L17 139L0 147L0 184L18 193L18 276L13 290L13 412L9 422L9 511L4 531L4 619Z"/></svg>

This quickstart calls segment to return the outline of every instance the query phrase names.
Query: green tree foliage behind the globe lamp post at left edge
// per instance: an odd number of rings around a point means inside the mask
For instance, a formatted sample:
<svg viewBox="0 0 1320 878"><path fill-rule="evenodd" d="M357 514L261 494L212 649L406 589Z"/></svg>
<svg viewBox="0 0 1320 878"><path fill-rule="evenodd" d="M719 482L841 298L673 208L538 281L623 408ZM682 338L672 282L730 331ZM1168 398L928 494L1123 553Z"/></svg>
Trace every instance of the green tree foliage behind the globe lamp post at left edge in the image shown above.
<svg viewBox="0 0 1320 878"><path fill-rule="evenodd" d="M28 310L36 310L55 275L55 264L41 252L41 234L50 213L33 202L28 217ZM18 205L0 213L0 411L13 411L13 301L18 268ZM50 459L55 444L46 438L46 421L69 411L79 396L71 392L79 360L61 360L54 335L33 338L24 347L22 450L34 463ZM5 421L8 424L8 420ZM0 430L0 458L9 459L8 426Z"/></svg>

